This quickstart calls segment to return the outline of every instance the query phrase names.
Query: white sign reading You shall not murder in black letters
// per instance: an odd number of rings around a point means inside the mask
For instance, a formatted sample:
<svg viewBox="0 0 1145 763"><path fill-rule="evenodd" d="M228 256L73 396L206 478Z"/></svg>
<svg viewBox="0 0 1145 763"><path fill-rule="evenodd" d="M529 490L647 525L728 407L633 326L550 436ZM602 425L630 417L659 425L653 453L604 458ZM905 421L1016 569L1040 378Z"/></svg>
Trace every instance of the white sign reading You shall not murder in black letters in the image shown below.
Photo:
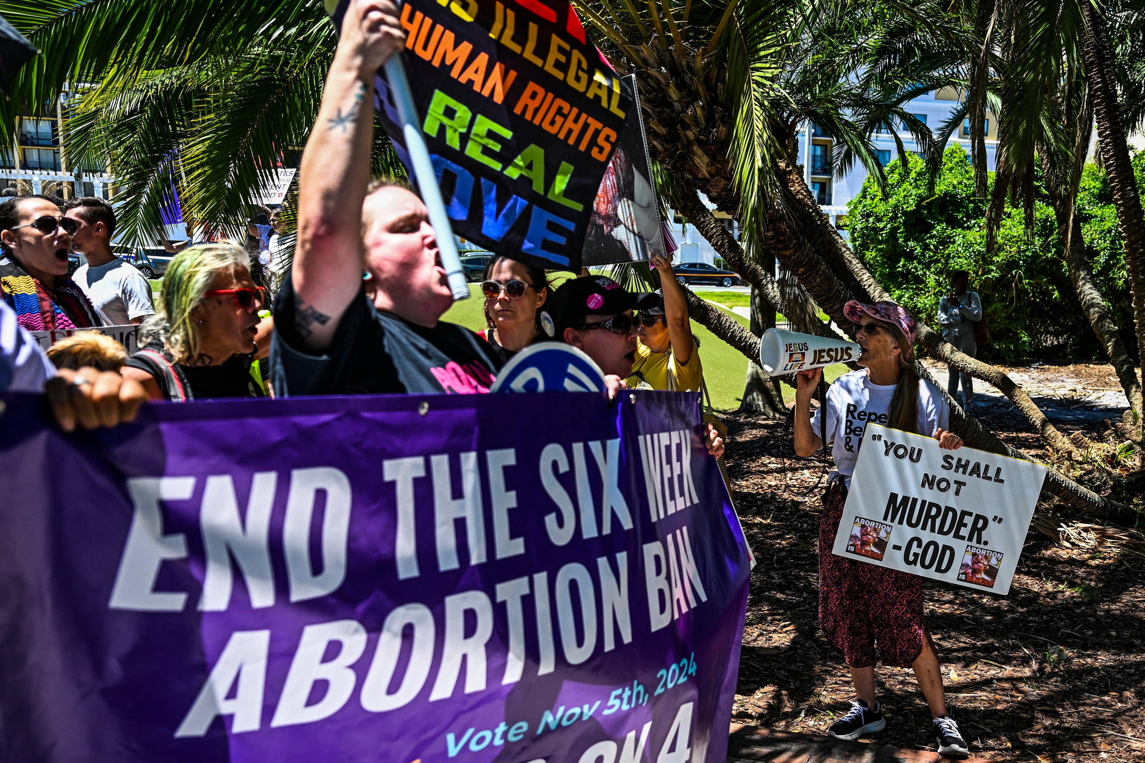
<svg viewBox="0 0 1145 763"><path fill-rule="evenodd" d="M1045 467L868 423L831 553L1008 594Z"/></svg>

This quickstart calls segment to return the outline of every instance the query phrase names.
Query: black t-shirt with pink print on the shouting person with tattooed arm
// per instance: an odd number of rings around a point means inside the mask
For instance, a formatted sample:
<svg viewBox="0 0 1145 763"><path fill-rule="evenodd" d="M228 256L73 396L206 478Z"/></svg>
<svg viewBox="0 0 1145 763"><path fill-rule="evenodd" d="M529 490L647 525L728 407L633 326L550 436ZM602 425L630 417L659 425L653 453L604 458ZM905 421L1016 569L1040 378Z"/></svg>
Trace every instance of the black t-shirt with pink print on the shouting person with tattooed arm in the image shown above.
<svg viewBox="0 0 1145 763"><path fill-rule="evenodd" d="M278 292L270 377L275 394L378 395L488 392L503 363L476 334L439 321L425 328L374 309L363 286L350 302L325 355L298 348L297 296L287 278Z"/></svg>

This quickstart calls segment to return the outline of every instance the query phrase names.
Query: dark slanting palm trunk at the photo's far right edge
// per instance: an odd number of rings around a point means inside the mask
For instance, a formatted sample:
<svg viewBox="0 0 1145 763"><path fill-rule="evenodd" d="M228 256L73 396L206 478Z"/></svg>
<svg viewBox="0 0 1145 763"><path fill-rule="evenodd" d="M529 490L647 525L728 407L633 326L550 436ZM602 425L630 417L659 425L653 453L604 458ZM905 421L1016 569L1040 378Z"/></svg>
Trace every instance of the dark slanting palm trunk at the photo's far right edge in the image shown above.
<svg viewBox="0 0 1145 763"><path fill-rule="evenodd" d="M1145 360L1145 215L1137 192L1137 180L1129 158L1126 129L1118 105L1118 86L1113 75L1113 54L1106 34L1105 19L1090 2L1082 2L1088 34L1082 54L1085 75L1093 94L1097 113L1097 135L1101 160L1113 189L1113 202L1121 225L1121 240L1126 252L1126 270L1134 297L1134 323L1137 327L1137 347ZM1137 440L1142 439L1142 423L1137 416Z"/></svg>

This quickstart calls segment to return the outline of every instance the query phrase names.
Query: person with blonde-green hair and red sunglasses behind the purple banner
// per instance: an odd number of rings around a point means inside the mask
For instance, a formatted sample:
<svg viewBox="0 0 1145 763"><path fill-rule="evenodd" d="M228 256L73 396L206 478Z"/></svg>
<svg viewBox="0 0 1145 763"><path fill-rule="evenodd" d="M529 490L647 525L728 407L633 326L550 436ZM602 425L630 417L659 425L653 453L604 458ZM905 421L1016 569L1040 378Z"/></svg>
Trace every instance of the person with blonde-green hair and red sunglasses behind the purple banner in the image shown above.
<svg viewBox="0 0 1145 763"><path fill-rule="evenodd" d="M159 312L143 323L143 349L127 359L124 376L152 400L264 397L254 363L270 349L271 319L258 315L264 301L238 244L183 249L167 265Z"/></svg>

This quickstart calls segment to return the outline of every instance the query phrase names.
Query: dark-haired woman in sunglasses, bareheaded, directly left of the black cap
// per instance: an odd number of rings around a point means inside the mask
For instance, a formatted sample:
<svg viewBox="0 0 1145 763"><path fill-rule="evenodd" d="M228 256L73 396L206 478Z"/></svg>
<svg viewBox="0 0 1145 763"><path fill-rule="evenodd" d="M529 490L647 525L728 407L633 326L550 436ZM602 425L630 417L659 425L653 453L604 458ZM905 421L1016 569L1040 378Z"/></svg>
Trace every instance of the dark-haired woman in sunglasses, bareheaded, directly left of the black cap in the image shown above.
<svg viewBox="0 0 1145 763"><path fill-rule="evenodd" d="M481 293L485 297L485 324L477 332L502 359L507 361L543 334L542 308L551 291L548 278L540 268L527 265L502 255L485 265Z"/></svg>

